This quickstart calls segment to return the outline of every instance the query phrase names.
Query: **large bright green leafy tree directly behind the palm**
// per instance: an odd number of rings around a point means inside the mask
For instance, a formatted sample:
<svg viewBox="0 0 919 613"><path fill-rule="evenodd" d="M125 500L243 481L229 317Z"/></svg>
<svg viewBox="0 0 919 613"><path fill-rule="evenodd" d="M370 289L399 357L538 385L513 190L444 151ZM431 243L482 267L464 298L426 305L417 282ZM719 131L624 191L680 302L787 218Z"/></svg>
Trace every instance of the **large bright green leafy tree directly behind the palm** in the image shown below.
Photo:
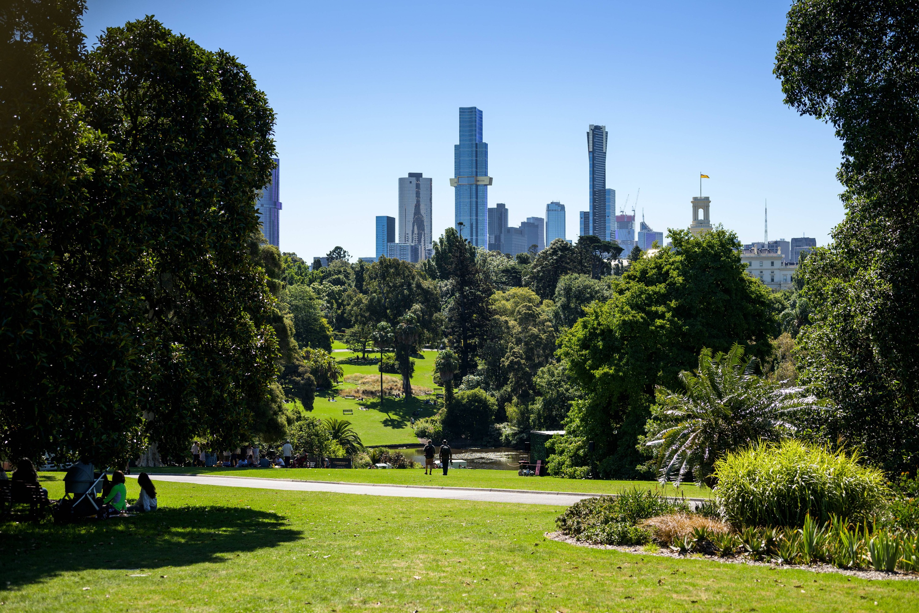
<svg viewBox="0 0 919 613"><path fill-rule="evenodd" d="M611 298L588 307L562 337L560 355L585 393L566 430L596 442L607 475L634 474L654 387L674 387L703 347L742 342L760 358L771 352L769 290L743 272L737 237L720 227L702 238L686 230L670 237L673 249L632 263L612 282Z"/></svg>

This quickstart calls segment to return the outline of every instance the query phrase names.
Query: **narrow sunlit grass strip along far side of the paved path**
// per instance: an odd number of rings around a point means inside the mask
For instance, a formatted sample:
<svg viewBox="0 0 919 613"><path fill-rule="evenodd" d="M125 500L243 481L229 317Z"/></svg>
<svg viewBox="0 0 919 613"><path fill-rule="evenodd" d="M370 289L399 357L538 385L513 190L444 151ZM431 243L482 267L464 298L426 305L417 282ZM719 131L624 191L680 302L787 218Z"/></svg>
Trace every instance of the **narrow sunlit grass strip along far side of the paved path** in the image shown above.
<svg viewBox="0 0 919 613"><path fill-rule="evenodd" d="M347 470L339 468L134 468L163 473L215 474L233 477L262 477L267 479L302 479L313 481L346 481L348 483L388 483L393 485L435 485L459 488L494 488L500 490L537 490L539 492L617 493L623 488L658 490L657 481L576 480L560 477L520 477L515 470L451 469L447 477L439 471L425 475L422 468L392 470ZM668 496L684 495L686 498L708 498L711 490L700 489L686 483L676 490L669 483L664 488Z"/></svg>

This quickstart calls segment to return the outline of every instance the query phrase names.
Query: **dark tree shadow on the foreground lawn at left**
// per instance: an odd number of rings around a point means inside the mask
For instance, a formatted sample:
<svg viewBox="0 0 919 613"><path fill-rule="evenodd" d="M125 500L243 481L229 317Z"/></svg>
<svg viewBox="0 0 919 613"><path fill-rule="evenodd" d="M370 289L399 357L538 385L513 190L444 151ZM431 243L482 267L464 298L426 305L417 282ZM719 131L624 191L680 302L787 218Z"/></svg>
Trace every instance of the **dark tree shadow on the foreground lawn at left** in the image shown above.
<svg viewBox="0 0 919 613"><path fill-rule="evenodd" d="M283 516L232 506L163 508L153 513L59 525L0 523L0 589L59 573L144 572L165 566L233 560L239 552L301 537Z"/></svg>

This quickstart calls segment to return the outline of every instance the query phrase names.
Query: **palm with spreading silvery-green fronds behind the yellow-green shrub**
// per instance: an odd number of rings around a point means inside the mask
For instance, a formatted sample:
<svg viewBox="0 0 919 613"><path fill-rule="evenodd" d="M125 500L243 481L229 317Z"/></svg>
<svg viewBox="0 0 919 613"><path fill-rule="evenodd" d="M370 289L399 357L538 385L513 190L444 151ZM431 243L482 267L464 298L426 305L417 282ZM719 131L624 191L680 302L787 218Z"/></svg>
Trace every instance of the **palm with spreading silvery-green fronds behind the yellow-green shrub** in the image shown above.
<svg viewBox="0 0 919 613"><path fill-rule="evenodd" d="M787 421L792 413L824 409L802 387L782 388L755 376L754 365L736 343L714 357L703 349L698 370L680 373L686 393L658 388L645 445L660 448L655 455L661 483L679 486L692 473L698 483L713 486L712 466L727 451L788 436L795 431Z"/></svg>

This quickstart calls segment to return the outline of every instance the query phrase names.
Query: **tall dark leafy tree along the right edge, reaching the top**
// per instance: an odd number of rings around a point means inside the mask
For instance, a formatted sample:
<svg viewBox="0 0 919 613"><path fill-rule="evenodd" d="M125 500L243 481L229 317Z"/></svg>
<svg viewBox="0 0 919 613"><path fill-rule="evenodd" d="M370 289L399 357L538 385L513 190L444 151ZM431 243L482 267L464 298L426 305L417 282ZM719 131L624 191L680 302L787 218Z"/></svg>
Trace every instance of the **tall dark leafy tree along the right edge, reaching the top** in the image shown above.
<svg viewBox="0 0 919 613"><path fill-rule="evenodd" d="M838 411L823 434L888 468L919 465L919 6L799 0L779 40L785 101L831 123L845 219L799 273L813 312L800 380ZM865 249L870 246L870 249Z"/></svg>

